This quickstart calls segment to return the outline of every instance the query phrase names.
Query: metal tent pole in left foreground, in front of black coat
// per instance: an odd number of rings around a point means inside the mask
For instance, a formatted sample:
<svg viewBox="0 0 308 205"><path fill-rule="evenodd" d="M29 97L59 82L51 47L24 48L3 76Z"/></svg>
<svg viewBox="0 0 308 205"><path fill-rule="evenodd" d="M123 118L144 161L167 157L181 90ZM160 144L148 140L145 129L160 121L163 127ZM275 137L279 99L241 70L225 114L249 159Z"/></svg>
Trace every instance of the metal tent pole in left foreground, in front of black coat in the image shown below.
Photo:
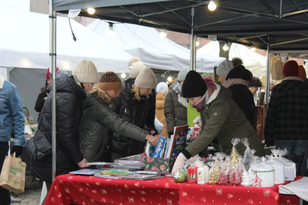
<svg viewBox="0 0 308 205"><path fill-rule="evenodd" d="M56 175L56 17L56 12L52 10L52 0L49 0L49 70L52 73L52 181L55 180Z"/></svg>

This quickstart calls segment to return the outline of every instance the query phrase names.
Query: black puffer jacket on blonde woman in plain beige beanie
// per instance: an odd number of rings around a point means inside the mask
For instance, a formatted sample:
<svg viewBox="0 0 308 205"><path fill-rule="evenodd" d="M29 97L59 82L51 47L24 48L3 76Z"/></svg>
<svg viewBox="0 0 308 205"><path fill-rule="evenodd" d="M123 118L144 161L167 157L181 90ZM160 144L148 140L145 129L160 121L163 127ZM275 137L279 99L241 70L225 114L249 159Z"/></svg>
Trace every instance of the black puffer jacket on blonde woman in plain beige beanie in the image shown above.
<svg viewBox="0 0 308 205"><path fill-rule="evenodd" d="M148 99L141 97L138 101L131 92L135 79L128 79L123 82L123 90L120 97L115 98L110 108L117 113L124 121L134 124L148 131L146 117L148 110ZM125 156L140 154L143 152L141 141L130 139L115 132L110 133L109 147L111 151L111 161Z"/></svg>

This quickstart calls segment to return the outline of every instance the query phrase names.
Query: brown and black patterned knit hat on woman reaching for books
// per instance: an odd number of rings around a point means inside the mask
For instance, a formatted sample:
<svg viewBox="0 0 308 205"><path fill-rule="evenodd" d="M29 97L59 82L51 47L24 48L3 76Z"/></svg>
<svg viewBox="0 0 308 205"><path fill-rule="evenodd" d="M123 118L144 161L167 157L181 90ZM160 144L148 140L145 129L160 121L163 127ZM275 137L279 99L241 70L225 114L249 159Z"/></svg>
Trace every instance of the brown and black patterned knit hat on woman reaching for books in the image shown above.
<svg viewBox="0 0 308 205"><path fill-rule="evenodd" d="M100 77L99 83L96 87L102 90L119 90L121 91L123 88L123 84L119 76L112 72L107 71Z"/></svg>

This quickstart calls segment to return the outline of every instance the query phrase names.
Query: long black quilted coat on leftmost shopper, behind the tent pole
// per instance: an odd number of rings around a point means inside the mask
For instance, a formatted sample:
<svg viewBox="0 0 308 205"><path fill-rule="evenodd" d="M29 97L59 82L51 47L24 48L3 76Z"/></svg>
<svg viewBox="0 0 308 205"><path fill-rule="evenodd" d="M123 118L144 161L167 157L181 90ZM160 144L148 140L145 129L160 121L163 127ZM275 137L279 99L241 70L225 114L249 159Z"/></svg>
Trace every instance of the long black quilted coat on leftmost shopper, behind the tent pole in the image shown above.
<svg viewBox="0 0 308 205"><path fill-rule="evenodd" d="M86 93L74 79L68 75L60 75L56 79L56 106L57 106L57 146L56 146L56 174L67 174L78 170L77 163L83 160L79 150L78 128L82 117L82 101ZM51 95L47 98L43 114L41 115L41 131L51 142ZM35 177L52 183L51 154L42 160L31 161L31 174Z"/></svg>

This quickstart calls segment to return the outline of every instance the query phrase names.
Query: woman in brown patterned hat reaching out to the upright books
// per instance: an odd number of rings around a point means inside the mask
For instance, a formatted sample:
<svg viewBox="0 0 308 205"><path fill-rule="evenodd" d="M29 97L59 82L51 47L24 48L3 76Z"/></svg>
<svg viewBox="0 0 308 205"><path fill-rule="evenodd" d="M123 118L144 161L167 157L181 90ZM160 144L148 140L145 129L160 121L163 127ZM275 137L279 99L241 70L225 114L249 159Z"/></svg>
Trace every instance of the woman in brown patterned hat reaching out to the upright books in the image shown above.
<svg viewBox="0 0 308 205"><path fill-rule="evenodd" d="M79 144L80 151L87 162L110 160L103 156L108 153L106 150L108 148L107 130L118 133L126 140L134 140L141 144L148 140L152 144L157 144L157 138L149 135L144 127L139 128L128 123L109 108L109 104L118 101L122 87L122 82L116 73L106 72L83 102L84 111L79 126Z"/></svg>

